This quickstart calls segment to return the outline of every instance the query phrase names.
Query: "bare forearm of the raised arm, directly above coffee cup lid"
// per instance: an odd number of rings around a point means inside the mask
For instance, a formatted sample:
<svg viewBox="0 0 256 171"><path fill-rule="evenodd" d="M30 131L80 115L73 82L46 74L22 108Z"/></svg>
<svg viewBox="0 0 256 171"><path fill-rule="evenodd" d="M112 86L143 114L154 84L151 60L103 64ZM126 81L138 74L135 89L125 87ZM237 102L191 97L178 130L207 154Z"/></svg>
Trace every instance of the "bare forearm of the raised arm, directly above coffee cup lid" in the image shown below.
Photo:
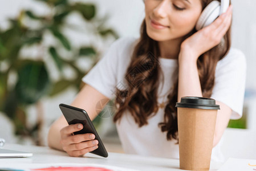
<svg viewBox="0 0 256 171"><path fill-rule="evenodd" d="M178 56L178 101L184 96L202 96L197 58L182 51Z"/></svg>

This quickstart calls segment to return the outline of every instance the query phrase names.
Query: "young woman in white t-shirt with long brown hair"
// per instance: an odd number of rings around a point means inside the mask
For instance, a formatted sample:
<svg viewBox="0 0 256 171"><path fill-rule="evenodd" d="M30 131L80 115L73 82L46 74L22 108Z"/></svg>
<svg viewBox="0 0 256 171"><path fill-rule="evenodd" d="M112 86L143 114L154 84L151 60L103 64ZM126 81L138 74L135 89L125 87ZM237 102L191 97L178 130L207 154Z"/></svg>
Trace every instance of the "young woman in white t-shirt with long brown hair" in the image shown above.
<svg viewBox="0 0 256 171"><path fill-rule="evenodd" d="M115 98L114 121L124 151L178 158L177 109L182 96L216 99L218 111L213 160L223 160L222 134L229 119L242 116L245 56L230 48L232 6L212 24L195 30L212 0L145 0L140 38L120 38L83 78L86 86L71 105L91 120L96 104ZM92 134L72 135L81 124L61 116L52 124L48 145L82 156L97 148Z"/></svg>

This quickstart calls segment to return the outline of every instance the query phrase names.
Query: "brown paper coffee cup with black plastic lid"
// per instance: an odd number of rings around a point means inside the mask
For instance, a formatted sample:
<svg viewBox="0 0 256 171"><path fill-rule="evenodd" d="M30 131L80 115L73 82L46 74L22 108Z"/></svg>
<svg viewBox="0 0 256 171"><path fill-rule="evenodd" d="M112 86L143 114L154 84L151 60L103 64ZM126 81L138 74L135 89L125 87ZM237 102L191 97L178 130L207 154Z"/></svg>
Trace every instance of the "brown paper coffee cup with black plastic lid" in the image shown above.
<svg viewBox="0 0 256 171"><path fill-rule="evenodd" d="M210 98L182 97L176 107L180 169L209 170L220 105Z"/></svg>

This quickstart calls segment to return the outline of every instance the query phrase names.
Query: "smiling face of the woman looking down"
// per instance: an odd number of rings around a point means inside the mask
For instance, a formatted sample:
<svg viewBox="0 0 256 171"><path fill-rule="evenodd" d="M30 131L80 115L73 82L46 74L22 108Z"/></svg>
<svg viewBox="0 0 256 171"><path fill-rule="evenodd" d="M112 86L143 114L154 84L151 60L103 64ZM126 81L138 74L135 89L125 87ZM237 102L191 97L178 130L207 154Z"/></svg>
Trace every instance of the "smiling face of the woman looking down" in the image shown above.
<svg viewBox="0 0 256 171"><path fill-rule="evenodd" d="M193 30L201 0L145 0L147 34L156 41L182 38Z"/></svg>

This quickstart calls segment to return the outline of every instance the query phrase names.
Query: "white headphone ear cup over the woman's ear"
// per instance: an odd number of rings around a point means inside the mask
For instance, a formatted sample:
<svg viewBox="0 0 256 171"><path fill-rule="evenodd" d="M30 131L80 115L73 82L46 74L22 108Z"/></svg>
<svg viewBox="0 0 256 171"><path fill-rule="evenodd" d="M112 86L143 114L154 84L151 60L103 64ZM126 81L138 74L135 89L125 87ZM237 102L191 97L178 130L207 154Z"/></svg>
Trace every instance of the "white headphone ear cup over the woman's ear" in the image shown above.
<svg viewBox="0 0 256 171"><path fill-rule="evenodd" d="M223 1L223 0L222 0ZM204 11L200 15L196 30L200 30L206 26L209 26L220 15L221 3L219 1L212 1L205 7Z"/></svg>

